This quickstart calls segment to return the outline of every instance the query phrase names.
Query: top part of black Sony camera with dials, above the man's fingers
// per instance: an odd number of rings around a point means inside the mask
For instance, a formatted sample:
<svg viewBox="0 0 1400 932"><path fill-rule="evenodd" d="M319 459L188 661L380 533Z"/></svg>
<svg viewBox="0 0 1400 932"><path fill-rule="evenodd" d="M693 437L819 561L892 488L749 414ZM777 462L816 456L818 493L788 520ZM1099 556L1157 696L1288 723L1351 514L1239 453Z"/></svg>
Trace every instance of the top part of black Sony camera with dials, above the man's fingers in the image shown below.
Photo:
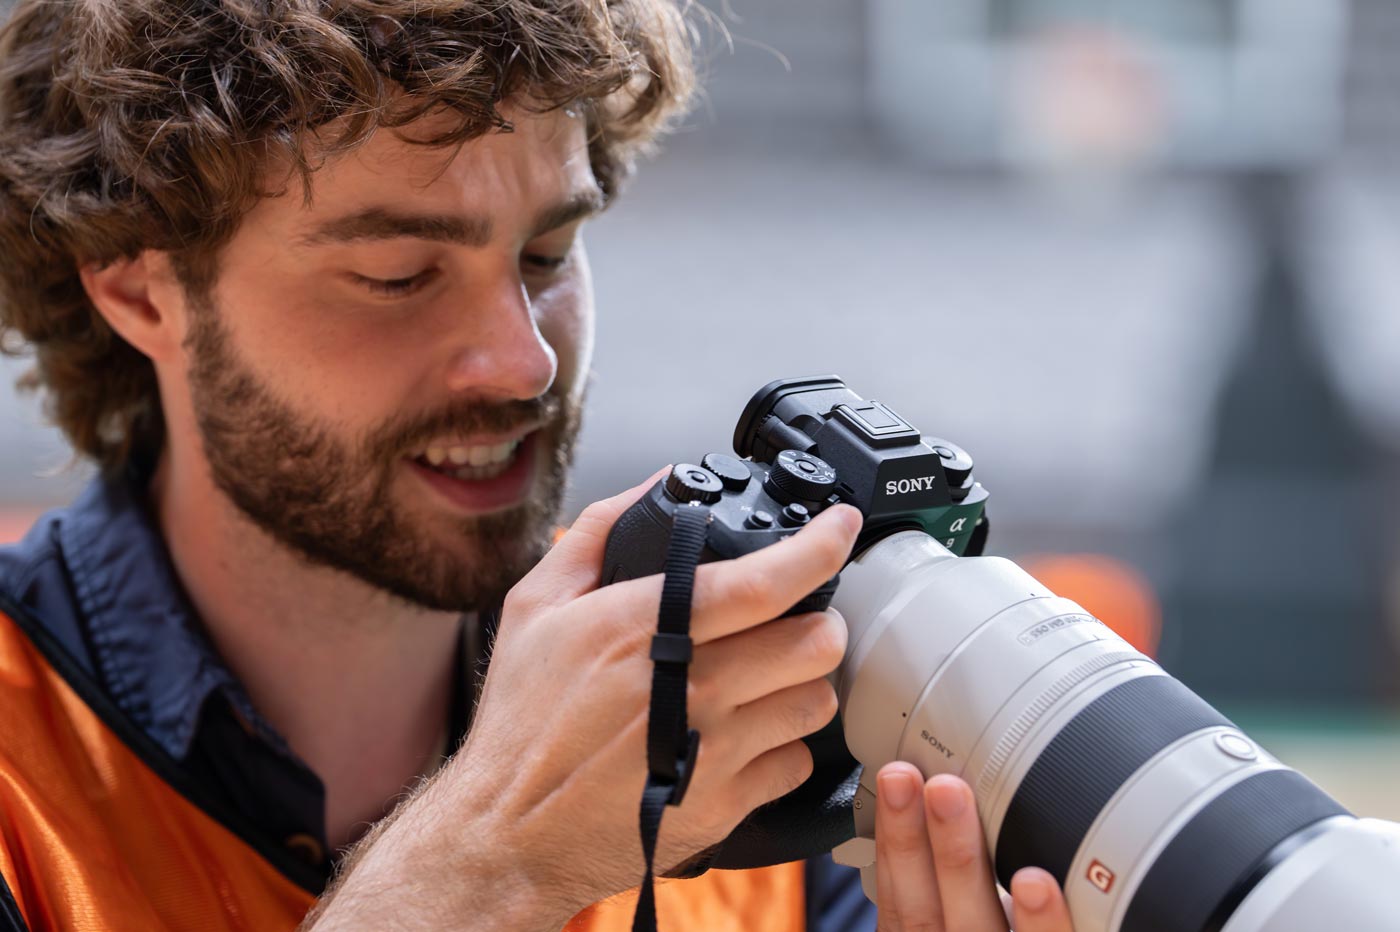
<svg viewBox="0 0 1400 932"><path fill-rule="evenodd" d="M734 451L750 459L706 453L699 466L680 463L619 518L605 584L661 572L675 511L692 502L710 509L701 563L762 550L836 502L865 516L855 553L899 530L923 530L958 556L986 544L987 491L972 458L834 375L764 385L739 417ZM794 610L813 609L804 600Z"/></svg>

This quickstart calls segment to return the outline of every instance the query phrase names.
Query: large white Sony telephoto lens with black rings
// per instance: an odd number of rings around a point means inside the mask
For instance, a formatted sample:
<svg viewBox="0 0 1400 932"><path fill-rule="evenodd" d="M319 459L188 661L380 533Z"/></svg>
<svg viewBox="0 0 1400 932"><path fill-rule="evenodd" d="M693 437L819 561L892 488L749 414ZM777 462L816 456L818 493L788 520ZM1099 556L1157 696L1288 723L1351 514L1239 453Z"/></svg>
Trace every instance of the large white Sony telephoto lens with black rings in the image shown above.
<svg viewBox="0 0 1400 932"><path fill-rule="evenodd" d="M1275 882L1317 861L1309 851L1400 877L1394 826L1358 831L1316 785L1008 560L896 533L847 565L833 606L850 627L841 725L865 768L862 838L834 854L864 868L867 894L874 778L893 760L967 781L998 880L1044 868L1077 932L1324 929L1275 925L1270 905L1299 910L1341 889L1322 861L1306 883ZM1396 889L1362 897L1352 911L1372 924L1345 928L1400 929Z"/></svg>

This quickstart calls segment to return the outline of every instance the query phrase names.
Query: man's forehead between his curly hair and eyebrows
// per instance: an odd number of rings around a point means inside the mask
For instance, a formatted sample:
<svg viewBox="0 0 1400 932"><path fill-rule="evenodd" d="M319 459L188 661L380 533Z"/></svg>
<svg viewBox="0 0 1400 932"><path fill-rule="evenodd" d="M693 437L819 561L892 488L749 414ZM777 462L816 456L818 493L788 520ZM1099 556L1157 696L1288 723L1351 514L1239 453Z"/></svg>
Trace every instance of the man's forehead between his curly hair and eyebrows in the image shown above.
<svg viewBox="0 0 1400 932"><path fill-rule="evenodd" d="M260 202L245 218L255 230L295 238L349 211L389 209L469 213L508 224L542 204L595 193L582 116L501 106L512 132L491 132L461 147L414 143L449 122L427 116L399 130L378 130L364 146L330 158L311 176L309 203L300 181Z"/></svg>

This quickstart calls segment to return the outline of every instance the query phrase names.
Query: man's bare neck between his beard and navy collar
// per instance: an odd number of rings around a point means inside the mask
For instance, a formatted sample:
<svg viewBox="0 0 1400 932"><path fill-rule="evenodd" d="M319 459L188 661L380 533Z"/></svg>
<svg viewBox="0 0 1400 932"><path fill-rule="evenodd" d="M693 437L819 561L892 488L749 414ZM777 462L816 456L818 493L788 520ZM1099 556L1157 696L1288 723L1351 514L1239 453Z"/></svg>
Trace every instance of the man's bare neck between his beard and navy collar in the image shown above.
<svg viewBox="0 0 1400 932"><path fill-rule="evenodd" d="M461 616L291 553L199 466L168 453L151 481L175 571L253 705L325 784L342 847L441 760Z"/></svg>

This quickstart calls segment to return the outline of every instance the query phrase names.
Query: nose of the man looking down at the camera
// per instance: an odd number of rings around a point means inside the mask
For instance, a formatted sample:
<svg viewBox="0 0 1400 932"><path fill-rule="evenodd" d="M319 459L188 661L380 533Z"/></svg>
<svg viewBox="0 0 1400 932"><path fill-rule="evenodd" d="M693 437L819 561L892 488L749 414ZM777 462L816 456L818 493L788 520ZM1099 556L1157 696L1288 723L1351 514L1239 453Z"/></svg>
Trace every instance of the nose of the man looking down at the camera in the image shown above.
<svg viewBox="0 0 1400 932"><path fill-rule="evenodd" d="M539 332L529 294L519 280L477 292L476 308L454 327L447 386L503 400L545 395L559 372L559 355Z"/></svg>

